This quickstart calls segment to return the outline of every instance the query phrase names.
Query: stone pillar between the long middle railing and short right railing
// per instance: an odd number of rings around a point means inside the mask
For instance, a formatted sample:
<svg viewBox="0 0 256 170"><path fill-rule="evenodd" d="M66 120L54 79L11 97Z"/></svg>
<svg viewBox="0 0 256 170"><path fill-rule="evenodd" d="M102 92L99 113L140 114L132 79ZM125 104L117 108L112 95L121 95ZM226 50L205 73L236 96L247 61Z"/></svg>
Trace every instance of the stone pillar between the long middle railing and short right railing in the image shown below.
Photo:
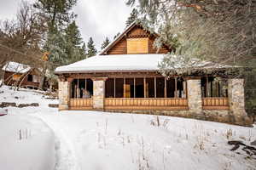
<svg viewBox="0 0 256 170"><path fill-rule="evenodd" d="M187 80L189 112L195 116L202 113L201 79Z"/></svg>

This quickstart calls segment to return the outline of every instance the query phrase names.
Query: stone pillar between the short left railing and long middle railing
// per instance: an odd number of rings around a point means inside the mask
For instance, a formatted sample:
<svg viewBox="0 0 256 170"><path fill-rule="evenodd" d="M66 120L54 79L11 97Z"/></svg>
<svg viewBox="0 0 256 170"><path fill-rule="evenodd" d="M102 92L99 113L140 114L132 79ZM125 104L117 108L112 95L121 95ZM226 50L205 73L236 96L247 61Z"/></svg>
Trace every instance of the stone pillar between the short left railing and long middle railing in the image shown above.
<svg viewBox="0 0 256 170"><path fill-rule="evenodd" d="M93 108L104 111L105 81L107 78L93 78Z"/></svg>

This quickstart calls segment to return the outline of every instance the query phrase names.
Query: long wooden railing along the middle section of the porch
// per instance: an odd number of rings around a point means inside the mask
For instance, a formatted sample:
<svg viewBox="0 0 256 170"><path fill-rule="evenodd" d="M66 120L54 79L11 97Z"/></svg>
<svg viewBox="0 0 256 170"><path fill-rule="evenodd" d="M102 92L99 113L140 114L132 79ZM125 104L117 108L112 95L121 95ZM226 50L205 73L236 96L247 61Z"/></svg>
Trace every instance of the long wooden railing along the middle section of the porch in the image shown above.
<svg viewBox="0 0 256 170"><path fill-rule="evenodd" d="M182 98L106 98L106 110L187 110L188 99Z"/></svg>

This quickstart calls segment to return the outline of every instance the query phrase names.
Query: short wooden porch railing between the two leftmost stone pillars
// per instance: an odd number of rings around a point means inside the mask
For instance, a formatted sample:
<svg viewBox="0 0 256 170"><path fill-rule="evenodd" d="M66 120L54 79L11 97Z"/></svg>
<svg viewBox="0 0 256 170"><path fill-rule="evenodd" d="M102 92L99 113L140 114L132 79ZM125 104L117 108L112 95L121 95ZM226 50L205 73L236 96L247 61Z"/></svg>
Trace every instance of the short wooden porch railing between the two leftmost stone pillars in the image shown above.
<svg viewBox="0 0 256 170"><path fill-rule="evenodd" d="M92 110L92 99L69 99L70 110Z"/></svg>

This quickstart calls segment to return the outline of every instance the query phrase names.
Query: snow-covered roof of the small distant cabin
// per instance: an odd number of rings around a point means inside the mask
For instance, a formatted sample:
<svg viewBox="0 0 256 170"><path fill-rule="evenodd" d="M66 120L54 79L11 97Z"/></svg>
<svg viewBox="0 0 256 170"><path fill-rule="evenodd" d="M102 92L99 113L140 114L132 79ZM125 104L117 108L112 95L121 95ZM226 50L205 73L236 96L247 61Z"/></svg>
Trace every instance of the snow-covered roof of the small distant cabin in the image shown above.
<svg viewBox="0 0 256 170"><path fill-rule="evenodd" d="M3 71L10 71L10 72L16 72L16 73L25 73L29 71L31 67L29 65L23 65L20 63L16 63L14 61L10 61L6 65L3 66Z"/></svg>

